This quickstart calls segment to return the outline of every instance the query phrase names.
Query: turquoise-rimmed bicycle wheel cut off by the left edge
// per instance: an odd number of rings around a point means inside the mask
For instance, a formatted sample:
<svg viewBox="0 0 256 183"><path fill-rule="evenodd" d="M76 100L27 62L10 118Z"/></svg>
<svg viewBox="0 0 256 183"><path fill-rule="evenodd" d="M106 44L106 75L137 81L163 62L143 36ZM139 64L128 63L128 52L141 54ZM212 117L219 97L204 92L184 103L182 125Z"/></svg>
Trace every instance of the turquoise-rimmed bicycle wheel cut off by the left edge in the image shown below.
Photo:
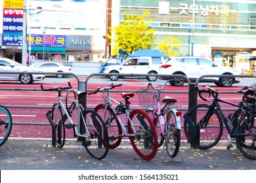
<svg viewBox="0 0 256 183"><path fill-rule="evenodd" d="M12 130L12 116L6 107L0 106L0 146L5 144Z"/></svg>

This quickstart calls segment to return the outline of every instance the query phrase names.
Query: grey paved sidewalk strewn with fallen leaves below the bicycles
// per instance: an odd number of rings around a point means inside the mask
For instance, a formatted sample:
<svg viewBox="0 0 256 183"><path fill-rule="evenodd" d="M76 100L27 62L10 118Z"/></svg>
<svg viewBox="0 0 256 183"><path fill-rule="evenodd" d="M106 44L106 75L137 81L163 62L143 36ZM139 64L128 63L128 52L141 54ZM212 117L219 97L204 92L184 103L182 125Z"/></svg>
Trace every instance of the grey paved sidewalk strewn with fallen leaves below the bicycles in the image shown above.
<svg viewBox="0 0 256 183"><path fill-rule="evenodd" d="M220 144L210 150L190 148L182 143L181 158L163 162L165 149L158 150L150 161L141 159L133 148L120 146L110 149L106 158L98 161L87 153L81 142L68 141L64 148L52 148L51 140L9 139L0 147L0 169L3 170L251 170L256 169L256 161L245 158L237 148L226 150Z"/></svg>

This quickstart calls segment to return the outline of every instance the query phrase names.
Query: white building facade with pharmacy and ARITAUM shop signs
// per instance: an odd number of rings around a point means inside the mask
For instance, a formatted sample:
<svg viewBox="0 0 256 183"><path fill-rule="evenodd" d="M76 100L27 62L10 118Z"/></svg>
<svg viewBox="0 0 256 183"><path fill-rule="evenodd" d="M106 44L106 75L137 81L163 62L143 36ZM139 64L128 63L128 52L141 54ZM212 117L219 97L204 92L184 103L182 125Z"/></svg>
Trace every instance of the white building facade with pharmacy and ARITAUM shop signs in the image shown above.
<svg viewBox="0 0 256 183"><path fill-rule="evenodd" d="M0 7L1 57L22 63L26 49L32 61L105 58L106 0L4 0Z"/></svg>

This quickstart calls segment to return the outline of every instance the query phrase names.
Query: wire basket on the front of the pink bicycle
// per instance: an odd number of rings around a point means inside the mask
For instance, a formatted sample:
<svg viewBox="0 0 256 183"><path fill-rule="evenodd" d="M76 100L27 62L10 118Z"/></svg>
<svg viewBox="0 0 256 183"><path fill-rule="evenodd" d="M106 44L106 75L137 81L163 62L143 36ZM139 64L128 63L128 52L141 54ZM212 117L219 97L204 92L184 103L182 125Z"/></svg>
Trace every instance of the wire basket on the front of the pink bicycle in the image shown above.
<svg viewBox="0 0 256 183"><path fill-rule="evenodd" d="M139 105L141 107L154 107L156 106L156 103L158 102L158 91L156 90L149 90L146 89L139 89L137 90L138 97L139 97ZM161 90L160 94L160 100L163 98L164 93L162 93L163 90Z"/></svg>

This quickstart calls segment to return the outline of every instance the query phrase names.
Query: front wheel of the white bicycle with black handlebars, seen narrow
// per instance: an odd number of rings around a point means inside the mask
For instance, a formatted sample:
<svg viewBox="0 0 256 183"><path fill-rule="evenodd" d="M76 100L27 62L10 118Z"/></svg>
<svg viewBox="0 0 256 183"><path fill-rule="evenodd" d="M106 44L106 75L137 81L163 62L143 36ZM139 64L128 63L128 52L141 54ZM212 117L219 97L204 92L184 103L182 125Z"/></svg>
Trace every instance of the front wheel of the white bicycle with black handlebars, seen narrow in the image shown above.
<svg viewBox="0 0 256 183"><path fill-rule="evenodd" d="M63 120L62 108L58 103L54 103L52 110L52 118L55 125L56 144L58 148L62 148L65 143L65 125Z"/></svg>

